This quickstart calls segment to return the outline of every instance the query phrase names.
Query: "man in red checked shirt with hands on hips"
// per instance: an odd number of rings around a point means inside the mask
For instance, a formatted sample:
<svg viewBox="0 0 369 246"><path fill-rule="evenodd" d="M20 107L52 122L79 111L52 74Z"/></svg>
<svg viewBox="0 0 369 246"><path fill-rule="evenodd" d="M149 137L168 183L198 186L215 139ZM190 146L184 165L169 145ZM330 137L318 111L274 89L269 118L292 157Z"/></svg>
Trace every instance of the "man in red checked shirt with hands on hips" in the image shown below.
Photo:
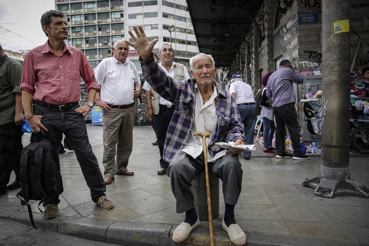
<svg viewBox="0 0 369 246"><path fill-rule="evenodd" d="M114 204L106 198L106 185L92 152L84 120L94 105L100 87L83 52L64 43L68 38L65 14L56 10L47 11L41 17L41 26L49 39L44 45L28 52L23 66L20 89L25 117L34 133L39 133L40 129L46 131L55 150L61 143L62 134L68 137L90 188L92 201L102 209L111 209ZM87 103L82 107L78 103L80 77L89 93ZM33 113L32 98L36 100ZM36 134L34 141L41 141L42 138L42 134ZM44 203L45 219L58 215L59 202L59 199L49 199Z"/></svg>

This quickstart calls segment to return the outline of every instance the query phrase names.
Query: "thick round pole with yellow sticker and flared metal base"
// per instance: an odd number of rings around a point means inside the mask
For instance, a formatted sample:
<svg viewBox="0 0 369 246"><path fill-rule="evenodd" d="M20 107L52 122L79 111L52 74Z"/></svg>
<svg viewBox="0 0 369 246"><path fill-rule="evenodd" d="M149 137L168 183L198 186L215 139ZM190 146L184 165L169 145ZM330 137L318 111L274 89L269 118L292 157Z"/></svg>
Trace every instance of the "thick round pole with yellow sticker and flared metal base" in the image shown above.
<svg viewBox="0 0 369 246"><path fill-rule="evenodd" d="M335 21L351 21L351 0L322 1L323 133L320 176L306 180L321 197L369 197L368 188L350 177L349 31L335 33ZM339 28L337 27L337 30Z"/></svg>

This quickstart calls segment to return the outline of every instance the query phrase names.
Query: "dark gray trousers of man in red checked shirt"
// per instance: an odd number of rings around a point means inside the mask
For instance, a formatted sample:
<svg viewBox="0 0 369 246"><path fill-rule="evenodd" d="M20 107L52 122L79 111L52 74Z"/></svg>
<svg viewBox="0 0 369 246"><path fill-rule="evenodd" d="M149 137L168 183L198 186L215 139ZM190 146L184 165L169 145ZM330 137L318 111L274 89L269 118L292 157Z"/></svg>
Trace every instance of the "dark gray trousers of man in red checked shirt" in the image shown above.
<svg viewBox="0 0 369 246"><path fill-rule="evenodd" d="M80 106L77 104L61 112L36 103L35 115L42 115L41 123L48 129L46 136L55 150L59 148L63 139L63 133L68 137L76 153L87 186L90 188L92 201L97 202L101 196L105 196L106 185L99 164L97 163L97 158L92 152L85 119L83 115L75 111L77 107ZM38 133L34 141L39 142L42 139L42 134ZM59 204L59 202L59 199L57 201L48 200L44 206L48 204Z"/></svg>

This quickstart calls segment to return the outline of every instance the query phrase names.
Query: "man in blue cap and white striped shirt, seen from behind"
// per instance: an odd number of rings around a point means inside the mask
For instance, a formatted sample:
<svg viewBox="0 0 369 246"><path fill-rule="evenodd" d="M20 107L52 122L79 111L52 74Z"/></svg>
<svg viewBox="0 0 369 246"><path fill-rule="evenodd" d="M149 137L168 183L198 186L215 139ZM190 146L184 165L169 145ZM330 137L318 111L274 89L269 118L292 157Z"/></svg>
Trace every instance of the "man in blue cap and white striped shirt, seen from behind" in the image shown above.
<svg viewBox="0 0 369 246"><path fill-rule="evenodd" d="M231 79L230 93L236 100L239 116L241 117L241 122L244 124L246 144L253 144L255 122L258 115L256 115L256 105L252 87L242 80L241 75L234 74ZM245 150L244 159L250 160L250 157L251 151Z"/></svg>

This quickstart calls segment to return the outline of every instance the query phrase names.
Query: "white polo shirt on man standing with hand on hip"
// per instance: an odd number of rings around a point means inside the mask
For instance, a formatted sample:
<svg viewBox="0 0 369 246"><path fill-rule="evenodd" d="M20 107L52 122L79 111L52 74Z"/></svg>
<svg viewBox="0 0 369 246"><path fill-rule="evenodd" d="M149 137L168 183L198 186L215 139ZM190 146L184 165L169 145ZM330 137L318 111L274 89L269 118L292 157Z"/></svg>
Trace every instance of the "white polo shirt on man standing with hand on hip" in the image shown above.
<svg viewBox="0 0 369 246"><path fill-rule="evenodd" d="M135 85L141 84L137 68L127 58L119 62L115 56L103 59L95 69L95 77L101 86L100 98L112 105L128 105L134 102Z"/></svg>

